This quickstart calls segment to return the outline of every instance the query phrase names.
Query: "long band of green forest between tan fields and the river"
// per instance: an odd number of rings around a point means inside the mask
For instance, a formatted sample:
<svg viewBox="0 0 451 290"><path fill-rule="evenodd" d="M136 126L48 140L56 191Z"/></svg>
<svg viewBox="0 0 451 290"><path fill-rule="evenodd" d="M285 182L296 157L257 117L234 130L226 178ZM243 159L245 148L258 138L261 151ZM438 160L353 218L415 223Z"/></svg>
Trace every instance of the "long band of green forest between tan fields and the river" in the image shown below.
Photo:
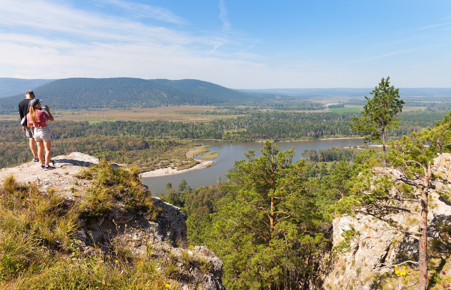
<svg viewBox="0 0 451 290"><path fill-rule="evenodd" d="M252 111L236 118L211 122L116 121L51 122L53 139L78 138L92 135L137 136L151 139L252 141L256 139L318 139L333 136L357 136L348 126L359 113L321 112L261 112ZM399 128L389 130L387 136L400 136L433 126L443 116L442 111L400 113ZM0 121L0 141L26 140L17 121Z"/></svg>

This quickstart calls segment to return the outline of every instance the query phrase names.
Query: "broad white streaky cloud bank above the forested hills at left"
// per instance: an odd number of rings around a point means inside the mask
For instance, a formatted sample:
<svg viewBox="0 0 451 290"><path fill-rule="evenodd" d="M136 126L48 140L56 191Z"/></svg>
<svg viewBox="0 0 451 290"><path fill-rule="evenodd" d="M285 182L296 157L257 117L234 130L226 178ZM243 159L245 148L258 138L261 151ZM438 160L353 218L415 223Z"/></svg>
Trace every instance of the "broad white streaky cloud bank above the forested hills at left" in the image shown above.
<svg viewBox="0 0 451 290"><path fill-rule="evenodd" d="M40 17L23 21L24 6ZM2 0L0 75L198 78L244 87L255 71L266 71L264 63L252 61L258 56L240 51L242 42L222 34L148 25L77 9L69 1Z"/></svg>

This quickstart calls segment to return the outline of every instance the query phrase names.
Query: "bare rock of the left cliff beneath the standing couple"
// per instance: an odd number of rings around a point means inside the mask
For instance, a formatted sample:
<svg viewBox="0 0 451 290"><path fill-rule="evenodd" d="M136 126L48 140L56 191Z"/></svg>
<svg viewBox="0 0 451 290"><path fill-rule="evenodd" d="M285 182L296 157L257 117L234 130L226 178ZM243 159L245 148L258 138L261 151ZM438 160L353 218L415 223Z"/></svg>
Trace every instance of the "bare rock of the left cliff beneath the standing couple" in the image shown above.
<svg viewBox="0 0 451 290"><path fill-rule="evenodd" d="M79 152L56 156L52 160L56 169L50 171L41 170L40 164L34 162L2 168L0 180L13 174L17 181L35 183L44 193L52 188L69 205L83 198L83 192L91 186L91 181L77 178L75 174L98 164L99 160ZM111 166L119 167L115 163ZM143 189L147 190L146 186ZM78 249L86 254L95 249L107 252L105 245L116 239L121 247L131 249L131 255L147 254L162 263L172 263L178 269L172 279L183 290L226 289L221 284L223 261L207 247L192 246L186 242L186 218L180 208L158 198L154 198L154 202L158 208L157 216L139 210L124 212L114 209L100 217L82 214L74 231Z"/></svg>

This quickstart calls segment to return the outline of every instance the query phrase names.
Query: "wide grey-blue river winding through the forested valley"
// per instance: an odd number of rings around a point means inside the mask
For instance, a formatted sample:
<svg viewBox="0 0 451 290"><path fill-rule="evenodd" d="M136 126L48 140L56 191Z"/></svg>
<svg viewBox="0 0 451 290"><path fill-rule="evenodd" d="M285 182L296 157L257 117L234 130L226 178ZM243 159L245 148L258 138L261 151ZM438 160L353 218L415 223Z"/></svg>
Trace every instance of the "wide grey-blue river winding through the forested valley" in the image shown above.
<svg viewBox="0 0 451 290"><path fill-rule="evenodd" d="M261 155L260 149L264 146L263 142L246 142L246 143L229 143L229 142L195 142L203 145L211 145L210 152L217 151L219 156L216 157L212 166L207 168L194 169L182 173L161 176L161 177L144 177L143 184L149 186L153 195L158 195L160 191L166 194L166 182L170 181L172 187L177 189L179 182L185 179L188 185L195 189L199 186L206 186L216 183L216 177L221 176L224 180L224 174L233 165L235 160L246 159L243 155L249 149L255 150L255 155ZM281 150L291 149L295 147L296 155L293 162L301 158L301 151L307 150L323 150L329 146L347 147L348 145L363 145L363 138L343 138L330 140L311 140L311 141L292 141L292 142L277 142L277 146Z"/></svg>

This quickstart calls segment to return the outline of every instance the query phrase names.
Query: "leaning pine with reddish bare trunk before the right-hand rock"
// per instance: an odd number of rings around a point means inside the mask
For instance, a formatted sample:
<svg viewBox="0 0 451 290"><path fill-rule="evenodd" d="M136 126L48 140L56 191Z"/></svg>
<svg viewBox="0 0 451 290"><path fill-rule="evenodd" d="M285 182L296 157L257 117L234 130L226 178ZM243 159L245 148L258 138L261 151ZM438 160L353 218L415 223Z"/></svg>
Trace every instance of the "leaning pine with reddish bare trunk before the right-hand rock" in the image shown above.
<svg viewBox="0 0 451 290"><path fill-rule="evenodd" d="M451 145L451 111L436 126L390 140L391 152L382 158L389 160L390 168L374 167L377 159L369 159L356 182L352 194L335 206L337 213L363 213L387 223L393 231L400 231L419 240L419 290L425 290L428 281L427 233L428 194L433 173L437 171L445 150ZM433 164L433 159L437 164ZM338 168L338 166L337 166ZM411 207L419 205L419 210ZM390 215L404 213L419 217L419 231L403 229Z"/></svg>

